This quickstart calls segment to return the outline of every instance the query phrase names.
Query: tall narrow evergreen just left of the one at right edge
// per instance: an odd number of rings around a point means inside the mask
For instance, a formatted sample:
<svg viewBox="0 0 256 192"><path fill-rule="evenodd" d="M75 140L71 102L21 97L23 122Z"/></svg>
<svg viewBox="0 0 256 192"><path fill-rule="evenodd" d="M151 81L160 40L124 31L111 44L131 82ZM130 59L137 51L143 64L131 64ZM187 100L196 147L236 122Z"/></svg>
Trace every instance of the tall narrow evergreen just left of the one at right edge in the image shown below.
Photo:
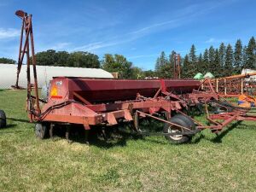
<svg viewBox="0 0 256 192"><path fill-rule="evenodd" d="M242 67L242 45L241 40L238 39L235 45L235 52L234 52L234 72L241 73Z"/></svg>

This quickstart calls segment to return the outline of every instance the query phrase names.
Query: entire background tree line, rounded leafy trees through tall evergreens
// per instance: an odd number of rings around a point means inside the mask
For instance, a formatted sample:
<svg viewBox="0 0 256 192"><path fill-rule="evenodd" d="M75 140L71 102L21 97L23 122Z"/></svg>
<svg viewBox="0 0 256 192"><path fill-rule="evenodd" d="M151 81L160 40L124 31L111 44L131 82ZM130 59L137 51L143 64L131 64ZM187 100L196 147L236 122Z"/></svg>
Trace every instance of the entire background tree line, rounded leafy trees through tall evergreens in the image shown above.
<svg viewBox="0 0 256 192"><path fill-rule="evenodd" d="M122 79L145 79L146 77L172 78L175 51L170 55L164 51L155 62L154 71L143 71L134 67L124 55L105 54L100 61L98 55L89 52L55 51L49 49L36 54L37 64L43 66L90 67L102 68L110 73L119 73ZM15 63L8 58L0 58L0 63ZM181 59L182 78L193 78L196 73L211 72L215 77L230 76L241 73L242 68L256 69L256 43L250 38L247 45L238 39L234 48L231 44L221 43L218 48L210 46L203 53L196 55L195 45L192 44L189 54Z"/></svg>

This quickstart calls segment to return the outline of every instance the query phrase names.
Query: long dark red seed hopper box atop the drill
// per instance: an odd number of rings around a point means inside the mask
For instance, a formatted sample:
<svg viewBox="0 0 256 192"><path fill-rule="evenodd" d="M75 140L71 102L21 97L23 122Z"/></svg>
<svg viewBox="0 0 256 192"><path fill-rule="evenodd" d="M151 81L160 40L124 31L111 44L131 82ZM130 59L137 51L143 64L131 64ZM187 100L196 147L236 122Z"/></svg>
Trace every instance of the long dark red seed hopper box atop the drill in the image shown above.
<svg viewBox="0 0 256 192"><path fill-rule="evenodd" d="M131 79L84 79L59 77L51 81L51 86L68 89L69 99L86 98L86 102L113 102L136 99L137 93L154 97L160 88L164 91L189 93L198 89L201 82L184 79L131 80ZM60 90L61 96L66 93ZM82 99L83 100L83 99ZM85 102L85 101L82 101Z"/></svg>

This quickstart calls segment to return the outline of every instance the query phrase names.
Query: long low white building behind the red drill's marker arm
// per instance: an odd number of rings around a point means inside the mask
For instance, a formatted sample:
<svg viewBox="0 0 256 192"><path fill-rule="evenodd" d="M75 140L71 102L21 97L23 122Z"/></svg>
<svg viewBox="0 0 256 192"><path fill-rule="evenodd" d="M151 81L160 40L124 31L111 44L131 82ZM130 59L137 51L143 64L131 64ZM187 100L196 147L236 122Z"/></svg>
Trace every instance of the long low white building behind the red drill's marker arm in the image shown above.
<svg viewBox="0 0 256 192"><path fill-rule="evenodd" d="M113 79L113 75L99 68L79 67L49 67L37 66L38 87L48 84L53 77L83 77L83 78L106 78ZM10 89L15 85L17 76L17 65L0 63L0 89ZM33 73L31 67L31 77ZM26 88L26 65L21 67L19 85Z"/></svg>

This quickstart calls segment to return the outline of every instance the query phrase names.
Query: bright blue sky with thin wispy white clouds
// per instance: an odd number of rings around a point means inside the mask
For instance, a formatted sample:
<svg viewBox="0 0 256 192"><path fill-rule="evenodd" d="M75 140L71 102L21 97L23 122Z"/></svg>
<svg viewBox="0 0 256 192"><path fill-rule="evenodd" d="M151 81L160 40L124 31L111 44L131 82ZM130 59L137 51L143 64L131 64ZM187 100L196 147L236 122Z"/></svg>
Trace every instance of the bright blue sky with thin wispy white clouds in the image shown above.
<svg viewBox="0 0 256 192"><path fill-rule="evenodd" d="M17 61L21 20L32 14L36 52L46 49L120 54L143 70L161 51L196 53L247 44L256 35L254 0L0 0L0 57Z"/></svg>

